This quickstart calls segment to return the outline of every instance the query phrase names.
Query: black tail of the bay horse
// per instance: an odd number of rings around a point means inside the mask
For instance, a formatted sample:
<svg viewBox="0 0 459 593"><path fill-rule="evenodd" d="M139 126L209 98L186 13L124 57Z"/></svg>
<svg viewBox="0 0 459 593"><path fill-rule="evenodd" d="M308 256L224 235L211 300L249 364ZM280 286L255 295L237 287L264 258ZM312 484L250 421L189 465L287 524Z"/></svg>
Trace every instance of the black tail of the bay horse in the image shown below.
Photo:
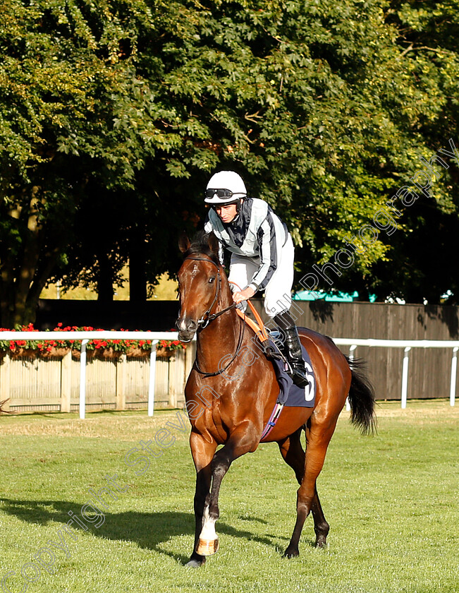
<svg viewBox="0 0 459 593"><path fill-rule="evenodd" d="M350 360L348 357L346 359L352 373L349 390L350 420L354 426L360 428L362 434L374 433L377 429L374 389L362 372L365 362L361 359Z"/></svg>

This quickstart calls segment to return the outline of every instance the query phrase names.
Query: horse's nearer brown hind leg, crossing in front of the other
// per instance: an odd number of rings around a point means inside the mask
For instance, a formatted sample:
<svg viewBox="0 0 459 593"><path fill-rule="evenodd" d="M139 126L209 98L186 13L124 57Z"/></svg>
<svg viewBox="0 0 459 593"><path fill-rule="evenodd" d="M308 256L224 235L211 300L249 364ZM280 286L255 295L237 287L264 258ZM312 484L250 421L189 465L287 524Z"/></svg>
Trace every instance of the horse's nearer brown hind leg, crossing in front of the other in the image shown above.
<svg viewBox="0 0 459 593"><path fill-rule="evenodd" d="M299 555L298 544L300 535L306 517L310 514L310 511L314 509L313 513L315 512L317 520L320 520L321 517L323 517L319 497L317 496L316 480L324 466L326 448L329 446L331 436L335 430L336 420L337 417L335 419L324 418L319 420L317 417L314 417L313 414L310 419L310 424L308 424L306 432L307 446L305 455L305 473L302 477L300 488L298 489L296 505L297 518L290 544L288 544L288 548L284 554L288 558ZM323 526L325 524L323 524ZM326 526L328 527L328 524L326 524ZM324 537L324 532L322 532L322 534L319 532L317 545L323 546L324 539L326 541L326 534Z"/></svg>

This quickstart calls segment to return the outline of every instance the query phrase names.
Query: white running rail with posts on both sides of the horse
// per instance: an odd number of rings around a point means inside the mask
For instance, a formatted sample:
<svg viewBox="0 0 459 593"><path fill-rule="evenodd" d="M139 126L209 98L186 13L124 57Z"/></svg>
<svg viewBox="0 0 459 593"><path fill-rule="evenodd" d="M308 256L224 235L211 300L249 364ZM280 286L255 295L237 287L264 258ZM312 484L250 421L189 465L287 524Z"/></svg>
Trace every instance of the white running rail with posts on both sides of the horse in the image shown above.
<svg viewBox="0 0 459 593"><path fill-rule="evenodd" d="M87 364L86 364L86 345L90 340L152 340L153 345L156 345L159 340L177 340L178 335L175 332L116 332L116 331L92 331L92 332L2 332L1 340L80 340L81 341L81 355L79 362L79 398L78 409L80 418L85 418L85 411L87 406ZM401 406L406 407L408 400L408 368L409 355L412 348L448 348L451 349L451 389L450 389L450 404L455 405L455 384L457 375L457 354L459 350L459 341L455 340L374 340L374 339L357 339L357 338L334 338L333 341L338 346L349 346L350 358L353 358L355 349L358 346L366 347L383 347L383 348L403 348L403 369L402 369L402 390L400 394ZM192 366L192 352L189 352L186 361L184 372L180 373L178 384L174 388L182 390L185 384L185 378ZM8 355L6 355L8 359ZM126 357L125 357L126 359ZM126 361L125 361L126 362ZM5 364L5 359L3 366ZM11 361L8 361L11 364ZM39 364L39 363L38 363ZM173 364L173 363L171 363ZM118 364L116 365L118 366ZM126 365L121 368L126 368ZM116 383L121 385L121 388L116 388L116 409L124 409L123 405L123 385L126 383L126 376L117 378ZM126 375L126 371L125 375ZM5 370L0 367L0 399L9 397L9 378L5 380ZM147 397L147 413L149 416L154 414L155 407L155 385L157 374L157 357L156 348L152 347L152 353L149 357L148 365L148 397ZM118 377L118 375L117 375ZM94 378L92 378L94 381ZM175 398L172 405L181 404L183 396ZM67 403L61 411L70 411L70 396L67 397Z"/></svg>

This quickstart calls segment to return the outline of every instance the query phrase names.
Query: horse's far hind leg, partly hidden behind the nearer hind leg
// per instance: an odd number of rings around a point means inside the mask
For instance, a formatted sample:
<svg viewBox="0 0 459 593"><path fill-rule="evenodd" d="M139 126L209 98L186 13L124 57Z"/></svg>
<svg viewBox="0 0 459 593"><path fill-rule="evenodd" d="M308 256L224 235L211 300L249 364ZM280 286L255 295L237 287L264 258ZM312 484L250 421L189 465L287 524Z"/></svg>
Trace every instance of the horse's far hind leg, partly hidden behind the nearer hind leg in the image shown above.
<svg viewBox="0 0 459 593"><path fill-rule="evenodd" d="M298 429L283 441L279 441L279 449L283 460L290 465L295 472L298 484L301 484L305 473L305 452L302 448L300 436L302 429ZM326 522L322 505L319 501L317 488L311 505L312 517L314 518L314 532L316 534L316 546L323 548L326 545L326 537L329 534L330 526Z"/></svg>

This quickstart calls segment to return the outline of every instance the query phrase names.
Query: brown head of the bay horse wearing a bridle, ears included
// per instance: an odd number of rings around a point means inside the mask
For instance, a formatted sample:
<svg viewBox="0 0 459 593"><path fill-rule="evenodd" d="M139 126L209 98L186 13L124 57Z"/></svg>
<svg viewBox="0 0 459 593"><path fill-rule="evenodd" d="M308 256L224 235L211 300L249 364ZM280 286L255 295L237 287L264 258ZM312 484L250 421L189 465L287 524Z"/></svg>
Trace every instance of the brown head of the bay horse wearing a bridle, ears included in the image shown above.
<svg viewBox="0 0 459 593"><path fill-rule="evenodd" d="M190 342L219 299L221 265L219 243L213 233L198 233L192 242L180 237L184 255L178 270L180 313L176 322L178 339Z"/></svg>

